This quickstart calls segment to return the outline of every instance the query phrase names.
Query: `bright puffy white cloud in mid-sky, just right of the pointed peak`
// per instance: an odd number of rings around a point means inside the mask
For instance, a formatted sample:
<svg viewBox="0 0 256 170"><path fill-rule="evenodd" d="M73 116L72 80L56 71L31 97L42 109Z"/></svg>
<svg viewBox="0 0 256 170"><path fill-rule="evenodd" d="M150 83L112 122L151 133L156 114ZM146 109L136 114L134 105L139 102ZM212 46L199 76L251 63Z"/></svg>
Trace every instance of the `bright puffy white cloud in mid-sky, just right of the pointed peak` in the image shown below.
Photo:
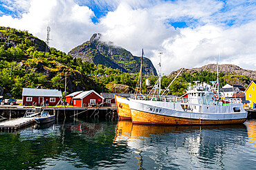
<svg viewBox="0 0 256 170"><path fill-rule="evenodd" d="M166 28L146 9L133 10L127 3L121 3L116 11L109 12L100 21L100 26L106 30L105 39L126 47L134 55L140 55L144 48L149 57L152 50L161 49L166 37L176 34L174 28Z"/></svg>

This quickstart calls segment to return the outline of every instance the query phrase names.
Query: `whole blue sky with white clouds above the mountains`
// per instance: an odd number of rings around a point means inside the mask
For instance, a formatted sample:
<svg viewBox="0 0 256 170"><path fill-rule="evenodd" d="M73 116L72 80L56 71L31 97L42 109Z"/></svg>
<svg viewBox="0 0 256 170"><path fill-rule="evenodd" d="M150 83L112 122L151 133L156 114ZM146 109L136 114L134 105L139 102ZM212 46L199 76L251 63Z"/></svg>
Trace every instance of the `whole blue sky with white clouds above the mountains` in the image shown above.
<svg viewBox="0 0 256 170"><path fill-rule="evenodd" d="M28 30L68 52L103 34L139 56L141 48L163 72L230 63L255 70L255 0L0 0L0 25Z"/></svg>

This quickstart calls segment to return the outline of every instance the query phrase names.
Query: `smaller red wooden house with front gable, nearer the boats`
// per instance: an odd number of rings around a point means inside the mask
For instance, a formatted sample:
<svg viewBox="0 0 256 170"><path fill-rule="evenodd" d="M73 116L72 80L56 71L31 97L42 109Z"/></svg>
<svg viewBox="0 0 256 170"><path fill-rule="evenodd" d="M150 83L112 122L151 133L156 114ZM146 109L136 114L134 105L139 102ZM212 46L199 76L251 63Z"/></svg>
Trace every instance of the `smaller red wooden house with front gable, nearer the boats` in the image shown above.
<svg viewBox="0 0 256 170"><path fill-rule="evenodd" d="M82 92L77 96L73 97L73 106L75 107L89 107L94 105L100 105L104 101L104 98L100 96L93 89Z"/></svg>

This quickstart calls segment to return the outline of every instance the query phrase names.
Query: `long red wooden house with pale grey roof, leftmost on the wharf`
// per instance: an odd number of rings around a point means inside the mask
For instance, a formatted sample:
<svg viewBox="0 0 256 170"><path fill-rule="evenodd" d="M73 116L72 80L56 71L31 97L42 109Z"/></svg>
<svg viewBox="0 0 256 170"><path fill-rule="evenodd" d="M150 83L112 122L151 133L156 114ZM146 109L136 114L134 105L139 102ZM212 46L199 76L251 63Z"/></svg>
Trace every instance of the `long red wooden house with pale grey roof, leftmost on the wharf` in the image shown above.
<svg viewBox="0 0 256 170"><path fill-rule="evenodd" d="M62 91L57 89L33 89L23 88L22 89L22 105L37 105L46 106L46 100L48 105L57 105L62 99Z"/></svg>

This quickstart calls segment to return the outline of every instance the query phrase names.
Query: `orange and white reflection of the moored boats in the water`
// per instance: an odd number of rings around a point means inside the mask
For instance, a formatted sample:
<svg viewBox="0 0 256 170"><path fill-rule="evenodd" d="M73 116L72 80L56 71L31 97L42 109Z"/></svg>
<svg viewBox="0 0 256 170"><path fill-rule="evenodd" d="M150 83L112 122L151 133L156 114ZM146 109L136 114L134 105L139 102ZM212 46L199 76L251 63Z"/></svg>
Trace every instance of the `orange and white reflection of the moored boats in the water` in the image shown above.
<svg viewBox="0 0 256 170"><path fill-rule="evenodd" d="M244 124L170 127L118 121L115 142L127 143L138 169L239 169L244 153L238 152L247 139Z"/></svg>

